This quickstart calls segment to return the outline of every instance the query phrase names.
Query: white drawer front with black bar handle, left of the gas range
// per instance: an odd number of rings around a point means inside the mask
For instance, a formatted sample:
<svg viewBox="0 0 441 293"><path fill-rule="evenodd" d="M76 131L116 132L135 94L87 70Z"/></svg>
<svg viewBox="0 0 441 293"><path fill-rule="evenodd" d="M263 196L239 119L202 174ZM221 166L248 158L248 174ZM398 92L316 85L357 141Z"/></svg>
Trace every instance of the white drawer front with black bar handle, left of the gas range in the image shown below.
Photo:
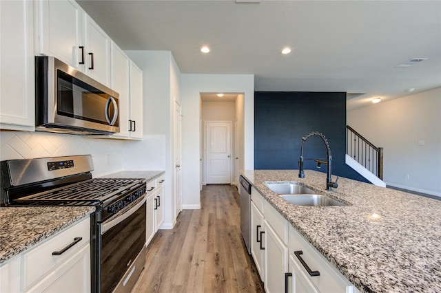
<svg viewBox="0 0 441 293"><path fill-rule="evenodd" d="M74 242L74 238L81 237L74 246L65 250L60 255L52 255L52 252L59 252ZM41 276L46 274L55 265L62 263L72 256L83 246L90 243L90 217L70 226L56 235L45 239L42 243L23 253L22 265L24 277L22 279L23 289L29 287Z"/></svg>

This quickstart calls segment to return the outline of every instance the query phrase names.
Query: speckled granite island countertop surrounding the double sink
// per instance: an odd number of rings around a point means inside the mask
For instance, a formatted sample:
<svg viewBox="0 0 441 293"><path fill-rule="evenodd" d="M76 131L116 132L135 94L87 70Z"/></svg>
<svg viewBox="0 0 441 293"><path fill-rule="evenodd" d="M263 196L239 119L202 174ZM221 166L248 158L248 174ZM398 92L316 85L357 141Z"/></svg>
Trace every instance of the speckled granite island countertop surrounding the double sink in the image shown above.
<svg viewBox="0 0 441 293"><path fill-rule="evenodd" d="M362 292L441 292L441 200L326 173L250 170L247 180ZM333 177L335 180L335 176ZM295 181L349 206L294 206L265 181Z"/></svg>

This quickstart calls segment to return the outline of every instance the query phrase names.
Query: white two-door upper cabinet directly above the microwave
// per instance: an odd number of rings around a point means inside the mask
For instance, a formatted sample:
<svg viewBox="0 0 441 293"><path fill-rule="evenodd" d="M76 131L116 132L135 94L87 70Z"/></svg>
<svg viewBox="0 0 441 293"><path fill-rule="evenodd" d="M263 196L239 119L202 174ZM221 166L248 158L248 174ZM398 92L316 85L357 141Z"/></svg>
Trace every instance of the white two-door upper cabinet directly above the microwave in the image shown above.
<svg viewBox="0 0 441 293"><path fill-rule="evenodd" d="M110 86L112 40L75 2L40 0L36 53L54 56Z"/></svg>

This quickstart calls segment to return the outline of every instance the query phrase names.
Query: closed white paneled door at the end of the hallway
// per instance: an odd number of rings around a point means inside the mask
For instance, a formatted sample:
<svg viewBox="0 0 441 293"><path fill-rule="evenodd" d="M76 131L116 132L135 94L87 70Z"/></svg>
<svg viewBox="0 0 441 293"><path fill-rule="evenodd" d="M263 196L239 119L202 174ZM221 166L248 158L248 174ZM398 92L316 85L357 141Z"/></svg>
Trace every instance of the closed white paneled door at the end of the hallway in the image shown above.
<svg viewBox="0 0 441 293"><path fill-rule="evenodd" d="M207 184L230 184L232 180L232 122L205 122Z"/></svg>

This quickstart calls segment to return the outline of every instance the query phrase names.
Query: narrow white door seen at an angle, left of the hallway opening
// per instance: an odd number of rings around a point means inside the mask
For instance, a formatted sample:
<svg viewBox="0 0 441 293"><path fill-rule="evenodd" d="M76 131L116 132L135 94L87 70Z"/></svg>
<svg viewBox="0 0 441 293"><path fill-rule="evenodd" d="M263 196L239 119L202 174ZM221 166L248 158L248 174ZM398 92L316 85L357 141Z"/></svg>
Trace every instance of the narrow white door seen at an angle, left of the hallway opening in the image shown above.
<svg viewBox="0 0 441 293"><path fill-rule="evenodd" d="M182 115L181 105L175 103L174 112L174 196L175 196L175 219L182 210L182 189L181 189L181 154L182 154Z"/></svg>

